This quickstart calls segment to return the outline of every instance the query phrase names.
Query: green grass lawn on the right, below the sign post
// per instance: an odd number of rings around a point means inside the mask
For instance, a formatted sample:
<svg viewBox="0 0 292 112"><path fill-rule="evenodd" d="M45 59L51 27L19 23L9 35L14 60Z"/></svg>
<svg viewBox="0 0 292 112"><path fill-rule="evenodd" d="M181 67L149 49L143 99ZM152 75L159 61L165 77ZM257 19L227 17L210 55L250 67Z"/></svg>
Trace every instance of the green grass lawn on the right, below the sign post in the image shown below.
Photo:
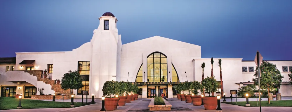
<svg viewBox="0 0 292 112"><path fill-rule="evenodd" d="M233 105L239 105L239 106L245 106L246 102L222 102L226 104L233 104ZM248 102L251 104L251 106L257 106L256 101ZM279 101L270 101L270 104L268 104L268 101L261 101L262 106L292 106L292 100L279 100ZM258 106L260 106L260 102L258 101Z"/></svg>

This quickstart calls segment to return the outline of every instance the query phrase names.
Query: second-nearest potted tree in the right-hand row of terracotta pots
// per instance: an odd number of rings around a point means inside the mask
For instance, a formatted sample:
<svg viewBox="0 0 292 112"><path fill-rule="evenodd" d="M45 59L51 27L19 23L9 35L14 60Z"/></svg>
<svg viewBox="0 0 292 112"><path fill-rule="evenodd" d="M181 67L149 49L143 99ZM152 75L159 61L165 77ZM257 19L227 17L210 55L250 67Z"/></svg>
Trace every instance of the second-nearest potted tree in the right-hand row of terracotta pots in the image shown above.
<svg viewBox="0 0 292 112"><path fill-rule="evenodd" d="M199 94L198 90L201 88L201 86L202 86L201 83L199 83L198 81L194 81L192 83L191 90L192 90L193 94L191 95L191 98L192 98L193 105L201 105L202 104L201 96L198 95ZM204 91L204 89L201 91Z"/></svg>

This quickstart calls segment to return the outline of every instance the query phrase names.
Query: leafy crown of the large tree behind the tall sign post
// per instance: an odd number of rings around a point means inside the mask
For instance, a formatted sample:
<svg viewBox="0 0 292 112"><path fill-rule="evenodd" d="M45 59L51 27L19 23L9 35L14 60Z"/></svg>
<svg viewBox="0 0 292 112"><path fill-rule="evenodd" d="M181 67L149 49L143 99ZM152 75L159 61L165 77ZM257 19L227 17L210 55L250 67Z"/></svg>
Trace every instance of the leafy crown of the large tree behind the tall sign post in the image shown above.
<svg viewBox="0 0 292 112"><path fill-rule="evenodd" d="M255 78L252 79L255 85L258 85L258 67L256 67L256 73L253 75ZM281 86L282 79L280 71L276 65L264 61L260 65L260 87L261 88L279 88Z"/></svg>

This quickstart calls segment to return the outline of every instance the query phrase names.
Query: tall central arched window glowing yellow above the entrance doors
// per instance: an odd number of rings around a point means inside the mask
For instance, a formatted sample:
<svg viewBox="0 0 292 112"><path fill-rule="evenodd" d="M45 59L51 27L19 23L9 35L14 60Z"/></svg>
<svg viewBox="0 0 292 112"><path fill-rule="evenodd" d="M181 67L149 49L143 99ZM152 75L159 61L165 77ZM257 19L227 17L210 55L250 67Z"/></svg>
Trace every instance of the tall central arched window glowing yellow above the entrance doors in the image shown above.
<svg viewBox="0 0 292 112"><path fill-rule="evenodd" d="M147 57L147 82L167 82L167 57L154 52Z"/></svg>

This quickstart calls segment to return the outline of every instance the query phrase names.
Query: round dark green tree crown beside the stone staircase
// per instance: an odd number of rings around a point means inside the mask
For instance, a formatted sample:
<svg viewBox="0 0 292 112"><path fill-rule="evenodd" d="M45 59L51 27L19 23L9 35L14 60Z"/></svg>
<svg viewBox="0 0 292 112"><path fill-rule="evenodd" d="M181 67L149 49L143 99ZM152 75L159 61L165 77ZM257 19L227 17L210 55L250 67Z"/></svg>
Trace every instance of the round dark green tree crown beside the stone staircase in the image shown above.
<svg viewBox="0 0 292 112"><path fill-rule="evenodd" d="M78 70L71 71L65 73L62 77L61 88L64 90L71 89L71 93L73 93L73 89L79 89L83 87L81 76Z"/></svg>

